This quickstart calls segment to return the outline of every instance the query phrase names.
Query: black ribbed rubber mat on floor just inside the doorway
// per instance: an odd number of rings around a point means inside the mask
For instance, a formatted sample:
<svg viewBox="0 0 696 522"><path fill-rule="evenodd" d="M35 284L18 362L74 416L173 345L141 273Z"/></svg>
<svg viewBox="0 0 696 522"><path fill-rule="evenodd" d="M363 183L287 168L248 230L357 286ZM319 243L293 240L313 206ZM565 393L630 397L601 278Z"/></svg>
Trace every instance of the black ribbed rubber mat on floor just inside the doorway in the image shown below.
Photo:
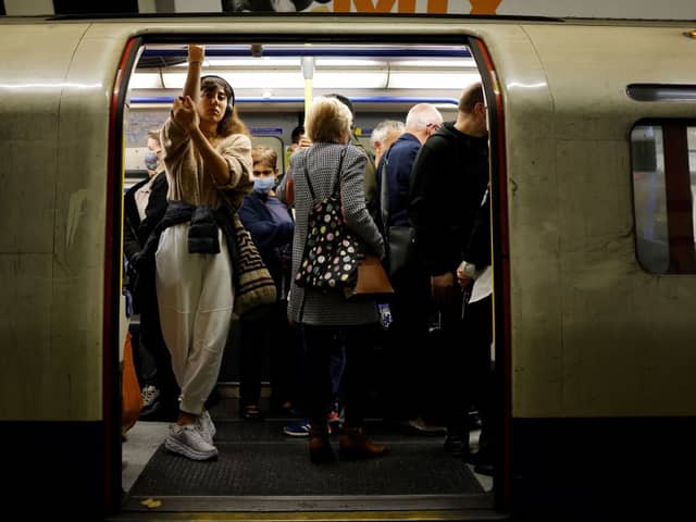
<svg viewBox="0 0 696 522"><path fill-rule="evenodd" d="M442 437L369 430L389 455L372 460L310 463L307 438L282 434L281 422L217 422L216 460L196 462L161 446L130 489L134 496L428 495L483 488ZM337 447L337 437L334 437Z"/></svg>

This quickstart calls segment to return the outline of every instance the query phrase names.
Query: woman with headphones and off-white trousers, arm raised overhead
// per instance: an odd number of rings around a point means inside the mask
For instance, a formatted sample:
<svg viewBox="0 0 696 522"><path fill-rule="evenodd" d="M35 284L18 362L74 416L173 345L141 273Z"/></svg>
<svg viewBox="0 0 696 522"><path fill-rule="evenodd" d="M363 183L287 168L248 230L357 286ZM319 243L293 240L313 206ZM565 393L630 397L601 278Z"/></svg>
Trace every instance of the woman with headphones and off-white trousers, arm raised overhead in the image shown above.
<svg viewBox="0 0 696 522"><path fill-rule="evenodd" d="M170 201L156 253L162 333L182 388L165 447L194 460L217 455L204 402L217 381L234 295L228 208L253 187L251 140L219 76L200 77L202 46L188 47L183 97L162 128Z"/></svg>

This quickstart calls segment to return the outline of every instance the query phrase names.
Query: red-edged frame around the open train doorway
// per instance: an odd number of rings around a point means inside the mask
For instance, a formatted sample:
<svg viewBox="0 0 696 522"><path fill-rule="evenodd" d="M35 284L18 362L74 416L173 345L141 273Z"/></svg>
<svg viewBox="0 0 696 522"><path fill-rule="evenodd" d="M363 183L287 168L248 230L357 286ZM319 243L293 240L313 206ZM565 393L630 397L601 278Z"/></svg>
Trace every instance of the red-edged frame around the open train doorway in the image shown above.
<svg viewBox="0 0 696 522"><path fill-rule="evenodd" d="M500 451L496 456L494 476L494 509L509 511L511 508L511 343L510 343L510 270L508 240L508 200L507 200L507 157L504 99L497 72L485 42L472 34L456 34L455 30L437 37L431 35L361 35L363 44L423 44L423 45L467 45L474 57L488 104L489 154L490 154L490 200L492 200L492 262L494 268L494 339L496 361L495 410L499 412L495 430L500 437ZM352 39L352 41L351 41ZM121 488L121 393L117 327L120 306L116 296L121 295L121 252L123 222L123 176L125 169L124 111L126 94L139 53L147 44L185 44L204 40L206 42L316 42L340 45L355 42L355 35L345 33L271 35L271 34L148 34L130 37L122 53L110 101L109 124L109 166L107 195L107 236L111 241L105 246L104 266L104 330L103 330L103 411L104 411L104 507L107 512L119 512L123 490ZM121 145L121 146L120 146ZM109 347L112 347L109 349ZM115 348L114 348L115 347Z"/></svg>

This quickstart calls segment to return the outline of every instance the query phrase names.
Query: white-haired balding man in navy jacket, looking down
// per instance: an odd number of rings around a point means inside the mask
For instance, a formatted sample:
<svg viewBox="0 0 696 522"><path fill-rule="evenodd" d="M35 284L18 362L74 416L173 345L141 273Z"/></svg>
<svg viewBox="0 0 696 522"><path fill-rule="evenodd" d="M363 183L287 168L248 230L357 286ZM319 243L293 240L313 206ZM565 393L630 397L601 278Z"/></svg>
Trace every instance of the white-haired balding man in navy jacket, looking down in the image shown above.
<svg viewBox="0 0 696 522"><path fill-rule="evenodd" d="M413 160L442 123L443 116L434 105L418 103L406 116L403 134L386 152L383 151L377 169L380 206L376 213L387 245L391 243L391 253L395 238L390 237L390 231L411 226L408 196ZM430 279L415 259L408 259L399 270L395 269L391 259L388 263L395 294L390 301L393 324L385 341L388 364L384 390L388 411L385 417L399 423L408 422L418 432L442 431L423 421L430 399L414 386L422 378L422 363L426 358L422 350L427 340Z"/></svg>

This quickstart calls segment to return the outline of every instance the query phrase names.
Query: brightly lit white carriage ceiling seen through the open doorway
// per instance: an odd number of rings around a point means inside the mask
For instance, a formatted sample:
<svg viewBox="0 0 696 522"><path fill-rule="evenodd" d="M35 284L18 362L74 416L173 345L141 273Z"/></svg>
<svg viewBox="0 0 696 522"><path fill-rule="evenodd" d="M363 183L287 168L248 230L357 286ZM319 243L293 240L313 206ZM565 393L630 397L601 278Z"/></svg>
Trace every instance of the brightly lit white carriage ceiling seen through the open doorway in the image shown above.
<svg viewBox="0 0 696 522"><path fill-rule="evenodd" d="M141 49L132 107L169 104L184 85L186 52L183 45ZM313 96L339 91L362 111L402 111L419 101L451 109L480 79L465 46L211 45L203 72L227 79L245 110L257 111L301 109L308 86Z"/></svg>

